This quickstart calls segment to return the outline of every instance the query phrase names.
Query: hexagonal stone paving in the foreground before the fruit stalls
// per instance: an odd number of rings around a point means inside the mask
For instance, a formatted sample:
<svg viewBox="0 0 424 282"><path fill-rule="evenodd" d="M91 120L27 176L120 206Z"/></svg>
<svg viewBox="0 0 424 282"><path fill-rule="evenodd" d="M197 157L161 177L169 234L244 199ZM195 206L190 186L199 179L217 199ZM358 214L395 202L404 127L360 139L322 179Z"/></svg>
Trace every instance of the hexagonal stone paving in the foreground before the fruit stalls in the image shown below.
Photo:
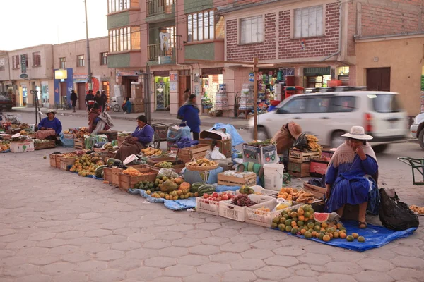
<svg viewBox="0 0 424 282"><path fill-rule="evenodd" d="M147 204L50 168L54 150L0 154L1 282L424 281L423 228L352 252ZM411 177L401 178L396 168L380 176L399 188L401 199L423 205Z"/></svg>

